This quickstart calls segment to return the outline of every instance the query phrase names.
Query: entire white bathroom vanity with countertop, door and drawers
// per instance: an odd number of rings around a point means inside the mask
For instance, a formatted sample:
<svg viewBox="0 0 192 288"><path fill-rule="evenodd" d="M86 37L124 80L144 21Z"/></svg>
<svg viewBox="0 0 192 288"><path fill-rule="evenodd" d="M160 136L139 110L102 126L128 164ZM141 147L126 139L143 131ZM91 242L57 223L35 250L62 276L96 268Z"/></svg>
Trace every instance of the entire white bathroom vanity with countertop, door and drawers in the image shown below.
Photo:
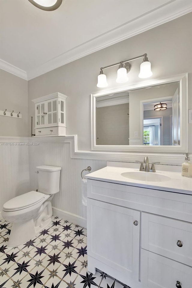
<svg viewBox="0 0 192 288"><path fill-rule="evenodd" d="M158 182L129 179L121 174L139 171L129 165L87 175L88 271L131 288L192 287L192 179L173 166L150 173Z"/></svg>

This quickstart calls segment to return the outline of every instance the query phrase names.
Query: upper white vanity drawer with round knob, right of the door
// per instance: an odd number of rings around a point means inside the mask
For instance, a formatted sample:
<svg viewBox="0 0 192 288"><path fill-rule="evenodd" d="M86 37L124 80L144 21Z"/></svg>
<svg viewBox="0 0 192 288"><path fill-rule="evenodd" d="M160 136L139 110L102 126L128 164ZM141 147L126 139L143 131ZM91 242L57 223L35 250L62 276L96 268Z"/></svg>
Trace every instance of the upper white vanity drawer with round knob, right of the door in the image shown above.
<svg viewBox="0 0 192 288"><path fill-rule="evenodd" d="M142 213L141 247L192 266L192 223Z"/></svg>

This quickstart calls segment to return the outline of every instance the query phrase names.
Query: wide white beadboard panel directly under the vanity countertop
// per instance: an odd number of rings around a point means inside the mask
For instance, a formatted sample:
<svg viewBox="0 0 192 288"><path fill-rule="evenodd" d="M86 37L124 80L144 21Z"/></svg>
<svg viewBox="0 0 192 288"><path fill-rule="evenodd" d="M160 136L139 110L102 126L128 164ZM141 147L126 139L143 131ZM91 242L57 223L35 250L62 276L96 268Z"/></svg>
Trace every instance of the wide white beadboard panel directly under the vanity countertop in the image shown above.
<svg viewBox="0 0 192 288"><path fill-rule="evenodd" d="M92 179L87 185L88 198L192 222L191 195Z"/></svg>

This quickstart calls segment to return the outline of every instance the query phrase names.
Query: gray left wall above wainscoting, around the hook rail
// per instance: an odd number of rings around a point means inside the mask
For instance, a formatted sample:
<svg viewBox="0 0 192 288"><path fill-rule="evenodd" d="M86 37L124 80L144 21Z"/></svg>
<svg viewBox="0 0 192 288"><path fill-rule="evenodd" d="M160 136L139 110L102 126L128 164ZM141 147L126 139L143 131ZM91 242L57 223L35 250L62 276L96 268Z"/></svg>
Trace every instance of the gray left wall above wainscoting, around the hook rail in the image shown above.
<svg viewBox="0 0 192 288"><path fill-rule="evenodd" d="M0 110L22 114L22 119L0 116L0 136L28 136L28 82L0 69Z"/></svg>

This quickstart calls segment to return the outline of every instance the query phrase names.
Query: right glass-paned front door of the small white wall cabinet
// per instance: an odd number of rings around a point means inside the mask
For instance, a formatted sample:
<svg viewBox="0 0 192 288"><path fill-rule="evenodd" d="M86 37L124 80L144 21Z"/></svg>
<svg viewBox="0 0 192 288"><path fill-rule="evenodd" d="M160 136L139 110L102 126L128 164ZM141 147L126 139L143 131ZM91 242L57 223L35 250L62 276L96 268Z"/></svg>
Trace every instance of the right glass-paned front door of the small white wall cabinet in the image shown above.
<svg viewBox="0 0 192 288"><path fill-rule="evenodd" d="M58 126L58 98L47 100L47 127Z"/></svg>

